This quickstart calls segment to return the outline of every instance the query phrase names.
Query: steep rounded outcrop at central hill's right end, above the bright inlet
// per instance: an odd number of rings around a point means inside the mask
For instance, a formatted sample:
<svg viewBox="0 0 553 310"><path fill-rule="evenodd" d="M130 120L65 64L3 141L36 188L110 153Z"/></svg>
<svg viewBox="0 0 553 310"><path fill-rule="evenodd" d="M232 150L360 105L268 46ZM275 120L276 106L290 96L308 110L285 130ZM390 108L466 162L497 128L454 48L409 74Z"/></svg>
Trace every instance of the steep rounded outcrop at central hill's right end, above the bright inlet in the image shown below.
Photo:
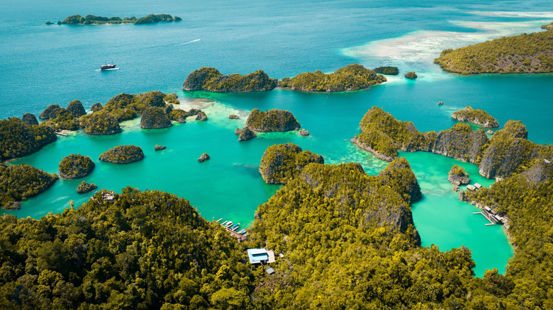
<svg viewBox="0 0 553 310"><path fill-rule="evenodd" d="M380 171L379 176L384 185L389 185L397 193L409 195L410 202L415 202L423 197L415 173L411 170L407 159L403 157L394 159L384 170Z"/></svg>

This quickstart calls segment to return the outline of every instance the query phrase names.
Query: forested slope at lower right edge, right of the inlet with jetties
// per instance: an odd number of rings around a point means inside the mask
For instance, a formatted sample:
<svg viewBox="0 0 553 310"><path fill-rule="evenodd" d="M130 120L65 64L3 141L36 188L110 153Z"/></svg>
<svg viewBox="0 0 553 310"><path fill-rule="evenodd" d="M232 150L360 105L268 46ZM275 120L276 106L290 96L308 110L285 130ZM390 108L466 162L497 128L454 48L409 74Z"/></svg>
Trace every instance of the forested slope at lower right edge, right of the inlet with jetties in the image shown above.
<svg viewBox="0 0 553 310"><path fill-rule="evenodd" d="M495 135L495 134L494 134ZM553 170L551 163L536 164ZM485 289L495 301L513 309L549 309L553 306L553 178L534 183L525 173L504 178L490 188L464 193L465 199L487 205L508 218L508 234L515 244L505 276L486 272ZM488 309L493 309L488 306Z"/></svg>

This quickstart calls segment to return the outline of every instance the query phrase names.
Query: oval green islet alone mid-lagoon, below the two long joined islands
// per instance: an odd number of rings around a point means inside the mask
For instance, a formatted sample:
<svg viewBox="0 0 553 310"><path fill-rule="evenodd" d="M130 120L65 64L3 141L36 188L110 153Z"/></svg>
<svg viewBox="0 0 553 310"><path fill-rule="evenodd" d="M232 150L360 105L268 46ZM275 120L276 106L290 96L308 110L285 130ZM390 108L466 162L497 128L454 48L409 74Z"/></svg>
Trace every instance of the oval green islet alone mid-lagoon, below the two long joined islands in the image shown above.
<svg viewBox="0 0 553 310"><path fill-rule="evenodd" d="M285 132L300 127L300 123L289 110L262 112L255 108L247 117L246 127L256 132Z"/></svg>

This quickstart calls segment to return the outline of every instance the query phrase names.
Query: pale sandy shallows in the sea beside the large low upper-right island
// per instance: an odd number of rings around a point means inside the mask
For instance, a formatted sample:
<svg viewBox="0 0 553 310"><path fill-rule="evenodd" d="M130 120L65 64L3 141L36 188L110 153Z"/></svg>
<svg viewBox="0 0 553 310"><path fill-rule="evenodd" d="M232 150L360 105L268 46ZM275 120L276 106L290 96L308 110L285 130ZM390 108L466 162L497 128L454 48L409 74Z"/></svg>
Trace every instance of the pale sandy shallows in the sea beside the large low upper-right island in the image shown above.
<svg viewBox="0 0 553 310"><path fill-rule="evenodd" d="M348 47L342 54L359 59L365 67L394 66L400 69L400 77L408 71L416 71L419 79L445 79L440 67L432 64L442 50L464 47L508 35L540 31L540 25L548 21L475 22L450 21L454 25L479 30L462 33L437 30L416 30L398 38L376 40L357 47ZM389 81L405 79L389 79Z"/></svg>

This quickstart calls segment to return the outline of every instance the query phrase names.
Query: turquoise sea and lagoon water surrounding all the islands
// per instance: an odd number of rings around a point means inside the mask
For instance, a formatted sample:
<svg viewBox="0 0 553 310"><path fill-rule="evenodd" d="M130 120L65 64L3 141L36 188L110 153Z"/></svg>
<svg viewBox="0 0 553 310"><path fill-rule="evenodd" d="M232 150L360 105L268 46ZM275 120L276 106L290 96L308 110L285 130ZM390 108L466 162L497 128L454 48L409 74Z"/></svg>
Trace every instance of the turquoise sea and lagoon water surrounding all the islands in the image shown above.
<svg viewBox="0 0 553 310"><path fill-rule="evenodd" d="M414 122L421 131L451 127L454 120L449 115L471 105L488 111L501 124L522 120L532 141L553 141L552 74L457 76L432 64L443 48L539 30L538 25L553 19L548 1L486 5L476 1L0 1L0 117L38 115L46 105L65 106L76 98L89 108L121 92L152 90L175 92L183 108L201 108L209 117L207 122L192 117L164 130L141 130L139 119L130 120L123 123L123 133L106 137L72 132L11 163L57 173L63 156L84 154L96 163L84 178L87 182L110 190L130 185L174 193L190 200L208 220L223 217L242 225L253 221L257 206L279 189L265 184L258 172L261 156L272 144L296 143L323 155L326 163L355 161L367 173L378 173L387 163L350 143L359 133L359 120L373 105ZM28 11L30 4L36 9ZM169 13L183 21L44 25L74 13L121 17ZM117 62L121 69L97 71L105 62ZM202 66L217 67L223 74L263 69L281 78L316 69L335 71L352 62L367 67L396 65L401 73L414 69L419 79L389 76L384 85L351 93L218 94L180 89L186 75ZM438 101L445 105L438 106ZM244 125L253 108L291 110L311 135L273 132L238 142L233 131ZM241 119L229 120L230 113ZM98 160L101 152L120 144L142 147L145 159L128 165ZM167 149L156 152L155 144ZM204 151L211 159L198 163ZM401 156L410 161L423 190L423 200L413 204L423 246L436 244L446 251L464 245L473 253L477 276L487 268L505 272L513 249L503 227L485 226L484 217L472 214L475 207L459 202L447 172L457 163L467 168L473 183L490 185L493 180L479 176L474 165L437 154L401 152ZM76 193L81 180L58 180L23 202L20 210L6 213L39 218L62 212L70 200L82 205L91 194Z"/></svg>

